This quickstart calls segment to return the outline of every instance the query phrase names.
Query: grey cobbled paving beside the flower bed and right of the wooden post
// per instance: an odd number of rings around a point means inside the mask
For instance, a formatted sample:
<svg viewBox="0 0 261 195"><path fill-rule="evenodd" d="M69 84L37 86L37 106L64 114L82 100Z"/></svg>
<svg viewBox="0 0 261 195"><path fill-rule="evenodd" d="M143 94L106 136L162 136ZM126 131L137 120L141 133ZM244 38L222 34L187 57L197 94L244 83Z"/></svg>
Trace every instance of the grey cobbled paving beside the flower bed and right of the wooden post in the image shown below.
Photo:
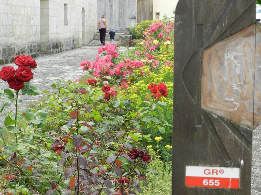
<svg viewBox="0 0 261 195"><path fill-rule="evenodd" d="M116 42L117 43L117 42ZM41 91L46 89L52 91L51 84L53 80L62 79L75 81L84 73L81 72L80 62L90 59L94 60L98 54L99 41L92 41L88 46L73 49L52 55L40 55L35 58L37 67L33 70L34 79L30 81L32 85L37 86ZM14 66L15 64L7 64ZM0 81L0 89L9 88L7 82ZM23 104L19 109L24 109L24 103L39 100L38 96L22 96ZM1 103L1 99L0 99ZM14 109L14 107L7 107ZM4 116L0 115L0 126L3 126ZM261 195L261 126L253 130L253 147L252 147L252 181L251 195Z"/></svg>

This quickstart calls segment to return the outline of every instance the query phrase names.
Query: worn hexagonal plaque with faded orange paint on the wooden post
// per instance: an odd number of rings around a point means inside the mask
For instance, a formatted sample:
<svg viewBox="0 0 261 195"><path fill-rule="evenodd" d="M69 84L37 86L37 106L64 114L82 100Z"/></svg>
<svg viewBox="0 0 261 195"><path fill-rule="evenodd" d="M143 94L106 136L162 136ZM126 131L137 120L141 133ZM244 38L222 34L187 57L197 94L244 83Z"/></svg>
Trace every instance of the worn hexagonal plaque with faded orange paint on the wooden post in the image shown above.
<svg viewBox="0 0 261 195"><path fill-rule="evenodd" d="M253 24L203 51L201 107L249 128L261 121L258 36Z"/></svg>

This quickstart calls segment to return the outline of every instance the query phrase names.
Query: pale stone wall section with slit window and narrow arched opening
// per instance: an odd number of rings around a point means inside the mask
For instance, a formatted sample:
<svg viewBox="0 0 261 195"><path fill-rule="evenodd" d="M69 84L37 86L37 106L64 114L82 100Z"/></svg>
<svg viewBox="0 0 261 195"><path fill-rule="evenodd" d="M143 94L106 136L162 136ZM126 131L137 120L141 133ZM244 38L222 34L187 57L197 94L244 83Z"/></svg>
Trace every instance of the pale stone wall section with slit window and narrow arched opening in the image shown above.
<svg viewBox="0 0 261 195"><path fill-rule="evenodd" d="M96 30L96 1L40 0L40 3L42 54L75 49L92 40Z"/></svg>

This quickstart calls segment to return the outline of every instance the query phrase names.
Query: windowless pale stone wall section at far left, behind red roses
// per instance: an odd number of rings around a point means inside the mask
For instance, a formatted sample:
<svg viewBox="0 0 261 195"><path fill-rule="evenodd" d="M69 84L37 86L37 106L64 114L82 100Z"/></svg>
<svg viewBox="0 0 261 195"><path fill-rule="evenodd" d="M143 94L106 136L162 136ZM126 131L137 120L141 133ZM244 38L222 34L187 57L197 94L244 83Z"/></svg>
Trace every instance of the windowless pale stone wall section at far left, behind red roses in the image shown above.
<svg viewBox="0 0 261 195"><path fill-rule="evenodd" d="M40 54L40 2L0 2L0 65L13 62L16 55Z"/></svg>

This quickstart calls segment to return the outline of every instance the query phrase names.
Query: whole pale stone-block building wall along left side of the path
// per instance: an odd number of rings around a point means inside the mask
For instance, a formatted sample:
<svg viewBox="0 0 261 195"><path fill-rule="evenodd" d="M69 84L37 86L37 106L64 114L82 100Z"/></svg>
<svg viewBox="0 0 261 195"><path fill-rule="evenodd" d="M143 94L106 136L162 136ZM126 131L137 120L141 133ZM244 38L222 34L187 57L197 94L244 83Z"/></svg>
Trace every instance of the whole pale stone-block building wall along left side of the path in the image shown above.
<svg viewBox="0 0 261 195"><path fill-rule="evenodd" d="M16 55L37 57L86 45L96 31L96 10L96 0L1 0L0 65Z"/></svg>

